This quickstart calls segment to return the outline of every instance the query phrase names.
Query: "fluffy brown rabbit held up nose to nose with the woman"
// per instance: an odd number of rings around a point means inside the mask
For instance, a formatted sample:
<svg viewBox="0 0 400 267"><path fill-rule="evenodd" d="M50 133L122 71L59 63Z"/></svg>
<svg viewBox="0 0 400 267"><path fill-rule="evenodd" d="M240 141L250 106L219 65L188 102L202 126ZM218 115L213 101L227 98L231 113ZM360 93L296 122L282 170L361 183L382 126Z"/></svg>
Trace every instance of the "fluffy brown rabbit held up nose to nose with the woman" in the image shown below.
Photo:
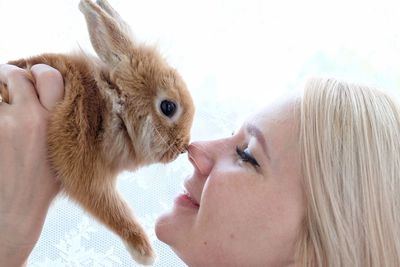
<svg viewBox="0 0 400 267"><path fill-rule="evenodd" d="M61 72L65 96L51 115L48 145L63 192L119 235L135 260L152 264L149 239L116 191L116 177L184 152L193 102L179 74L155 49L137 44L105 0L81 0L79 8L100 59L43 54L9 63ZM5 85L1 92L7 101Z"/></svg>

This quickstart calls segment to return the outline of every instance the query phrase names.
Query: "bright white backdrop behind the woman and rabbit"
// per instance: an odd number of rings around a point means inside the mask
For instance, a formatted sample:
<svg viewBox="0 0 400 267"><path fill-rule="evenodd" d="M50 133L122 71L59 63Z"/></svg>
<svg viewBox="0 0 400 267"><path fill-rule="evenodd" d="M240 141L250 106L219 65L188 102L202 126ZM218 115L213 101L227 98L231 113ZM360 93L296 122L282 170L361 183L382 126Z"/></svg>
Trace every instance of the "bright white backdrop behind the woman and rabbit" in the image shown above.
<svg viewBox="0 0 400 267"><path fill-rule="evenodd" d="M398 1L110 0L139 41L157 44L196 104L193 140L226 137L249 113L333 76L398 91ZM43 52L93 53L77 0L0 0L0 63ZM157 266L184 266L154 237L191 167L186 156L121 175ZM70 201L52 206L29 266L135 266L116 236Z"/></svg>

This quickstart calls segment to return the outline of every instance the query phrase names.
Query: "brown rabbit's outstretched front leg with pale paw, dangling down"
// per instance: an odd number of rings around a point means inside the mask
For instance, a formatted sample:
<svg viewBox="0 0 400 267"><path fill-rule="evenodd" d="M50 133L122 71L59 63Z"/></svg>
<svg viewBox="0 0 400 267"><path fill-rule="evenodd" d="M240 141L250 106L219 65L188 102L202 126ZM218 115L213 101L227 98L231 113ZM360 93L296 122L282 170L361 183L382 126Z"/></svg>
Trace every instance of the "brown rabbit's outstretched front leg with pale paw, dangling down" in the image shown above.
<svg viewBox="0 0 400 267"><path fill-rule="evenodd" d="M68 190L65 191L70 193ZM114 186L102 186L101 188L92 186L86 194L70 195L94 217L120 236L127 250L137 262L144 265L153 264L155 253L148 237Z"/></svg>

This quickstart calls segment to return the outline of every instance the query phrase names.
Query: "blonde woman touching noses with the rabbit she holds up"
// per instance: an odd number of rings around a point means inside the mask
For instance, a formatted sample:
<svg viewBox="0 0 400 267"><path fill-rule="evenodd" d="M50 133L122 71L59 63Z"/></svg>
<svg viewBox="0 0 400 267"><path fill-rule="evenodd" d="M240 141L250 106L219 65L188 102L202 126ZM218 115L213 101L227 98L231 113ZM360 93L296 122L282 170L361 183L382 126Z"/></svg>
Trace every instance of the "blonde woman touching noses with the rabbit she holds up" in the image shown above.
<svg viewBox="0 0 400 267"><path fill-rule="evenodd" d="M24 74L11 75L9 68L0 67L0 80L21 97L0 104L0 119L22 112L17 99L37 100L33 94L22 97L29 91L17 83L26 82ZM45 84L37 80L39 101L33 102L39 110L46 106ZM39 115L43 123L47 113ZM38 132L34 136L45 147L41 130L28 128ZM400 110L392 98L366 87L312 80L301 94L250 117L233 136L190 145L194 174L185 183L187 192L158 220L157 236L189 266L400 266L398 140ZM3 148L6 143L0 142ZM24 150L32 144L13 145L24 156L45 156L43 148ZM36 242L58 187L32 188L36 177L20 175L21 165L16 165L18 175L4 175L16 160L10 154L0 157L9 160L8 165L0 161L0 188L14 189L8 199L10 194L0 191L0 236L6 237L0 241L6 244L0 246L0 260L17 266ZM26 161L22 166L29 167L29 157ZM40 163L46 174L40 177L54 181L45 160ZM33 208L24 200L31 192L39 195L37 190L44 196L37 201L41 212L16 214ZM7 200L22 204L7 209ZM36 222L34 231L29 224L10 223L15 221ZM26 238L27 232L35 234Z"/></svg>

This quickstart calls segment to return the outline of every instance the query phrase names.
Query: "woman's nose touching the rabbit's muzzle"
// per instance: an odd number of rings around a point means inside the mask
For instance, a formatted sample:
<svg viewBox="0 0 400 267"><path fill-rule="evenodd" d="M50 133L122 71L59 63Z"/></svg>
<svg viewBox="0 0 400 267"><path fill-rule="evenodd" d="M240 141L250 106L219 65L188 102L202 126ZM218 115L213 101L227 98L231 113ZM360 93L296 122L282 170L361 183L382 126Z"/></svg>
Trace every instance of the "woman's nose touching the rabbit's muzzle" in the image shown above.
<svg viewBox="0 0 400 267"><path fill-rule="evenodd" d="M214 161L208 151L208 142L194 142L188 147L188 156L193 167L203 176L208 176Z"/></svg>

